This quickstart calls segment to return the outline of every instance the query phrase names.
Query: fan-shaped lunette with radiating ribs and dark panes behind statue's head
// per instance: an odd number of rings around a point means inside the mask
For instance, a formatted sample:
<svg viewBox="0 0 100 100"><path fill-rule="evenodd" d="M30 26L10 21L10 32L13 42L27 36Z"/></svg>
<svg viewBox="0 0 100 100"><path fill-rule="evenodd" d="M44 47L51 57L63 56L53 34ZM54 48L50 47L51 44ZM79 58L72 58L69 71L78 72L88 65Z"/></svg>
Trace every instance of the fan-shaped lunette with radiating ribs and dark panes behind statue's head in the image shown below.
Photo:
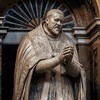
<svg viewBox="0 0 100 100"><path fill-rule="evenodd" d="M63 30L75 26L74 16L61 0L20 0L4 16L3 26L19 29L34 29L50 9L60 9L65 15Z"/></svg>

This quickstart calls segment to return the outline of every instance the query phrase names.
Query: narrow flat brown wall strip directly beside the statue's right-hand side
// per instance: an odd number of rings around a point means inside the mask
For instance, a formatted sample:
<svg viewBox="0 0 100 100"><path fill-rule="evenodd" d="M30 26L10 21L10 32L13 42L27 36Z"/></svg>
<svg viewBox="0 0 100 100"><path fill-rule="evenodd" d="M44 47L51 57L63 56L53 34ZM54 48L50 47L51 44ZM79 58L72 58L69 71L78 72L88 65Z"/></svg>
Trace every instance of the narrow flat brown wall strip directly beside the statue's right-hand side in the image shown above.
<svg viewBox="0 0 100 100"><path fill-rule="evenodd" d="M79 60L83 65L83 68L86 71L87 79L87 100L91 100L90 96L90 46L89 45L80 45L78 46Z"/></svg>

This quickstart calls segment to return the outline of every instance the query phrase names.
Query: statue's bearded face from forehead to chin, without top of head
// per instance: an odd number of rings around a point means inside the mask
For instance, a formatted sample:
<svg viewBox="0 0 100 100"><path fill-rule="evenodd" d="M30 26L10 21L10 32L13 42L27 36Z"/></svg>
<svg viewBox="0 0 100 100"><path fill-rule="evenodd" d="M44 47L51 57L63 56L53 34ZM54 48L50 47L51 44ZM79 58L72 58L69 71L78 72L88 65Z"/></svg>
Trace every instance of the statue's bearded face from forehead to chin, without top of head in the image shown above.
<svg viewBox="0 0 100 100"><path fill-rule="evenodd" d="M64 21L64 15L59 13L53 13L48 17L47 28L52 35L59 35L62 29L62 24Z"/></svg>

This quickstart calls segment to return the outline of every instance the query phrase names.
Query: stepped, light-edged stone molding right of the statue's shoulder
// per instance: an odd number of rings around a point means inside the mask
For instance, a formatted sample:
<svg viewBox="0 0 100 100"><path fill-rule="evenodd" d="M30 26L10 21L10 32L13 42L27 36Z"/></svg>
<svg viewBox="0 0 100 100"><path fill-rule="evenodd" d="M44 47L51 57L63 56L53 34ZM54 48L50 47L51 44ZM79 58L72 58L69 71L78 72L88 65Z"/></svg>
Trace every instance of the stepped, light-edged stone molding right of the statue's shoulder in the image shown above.
<svg viewBox="0 0 100 100"><path fill-rule="evenodd" d="M100 18L95 18L87 27L74 27L73 35L78 44L92 44L100 37Z"/></svg>

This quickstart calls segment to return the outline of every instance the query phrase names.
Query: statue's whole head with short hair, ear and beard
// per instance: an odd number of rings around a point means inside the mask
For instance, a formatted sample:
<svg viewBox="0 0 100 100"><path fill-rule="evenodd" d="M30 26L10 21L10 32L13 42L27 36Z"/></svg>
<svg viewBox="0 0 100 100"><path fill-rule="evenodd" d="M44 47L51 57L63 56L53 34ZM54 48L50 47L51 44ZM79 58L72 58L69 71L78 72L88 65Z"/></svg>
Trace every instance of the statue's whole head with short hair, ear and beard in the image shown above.
<svg viewBox="0 0 100 100"><path fill-rule="evenodd" d="M58 36L62 30L64 14L58 9L52 9L47 12L45 24L48 32L54 36Z"/></svg>

